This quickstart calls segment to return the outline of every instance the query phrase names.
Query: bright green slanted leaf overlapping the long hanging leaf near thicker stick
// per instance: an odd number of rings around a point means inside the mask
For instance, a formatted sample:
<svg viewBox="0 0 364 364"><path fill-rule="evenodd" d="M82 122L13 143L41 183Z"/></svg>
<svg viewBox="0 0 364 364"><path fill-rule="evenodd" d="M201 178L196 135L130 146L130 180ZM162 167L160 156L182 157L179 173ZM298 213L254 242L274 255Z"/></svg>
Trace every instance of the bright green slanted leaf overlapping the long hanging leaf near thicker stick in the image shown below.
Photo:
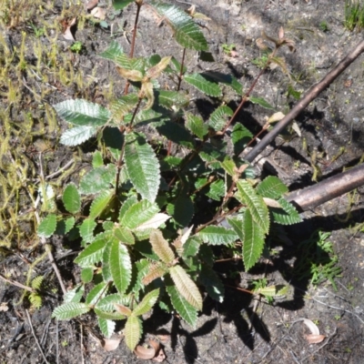
<svg viewBox="0 0 364 364"><path fill-rule="evenodd" d="M251 187L246 180L238 180L237 187L238 192L235 194L235 197L237 197L241 203L247 204L255 222L263 230L263 233L268 233L269 212L263 197L258 196L254 188Z"/></svg>

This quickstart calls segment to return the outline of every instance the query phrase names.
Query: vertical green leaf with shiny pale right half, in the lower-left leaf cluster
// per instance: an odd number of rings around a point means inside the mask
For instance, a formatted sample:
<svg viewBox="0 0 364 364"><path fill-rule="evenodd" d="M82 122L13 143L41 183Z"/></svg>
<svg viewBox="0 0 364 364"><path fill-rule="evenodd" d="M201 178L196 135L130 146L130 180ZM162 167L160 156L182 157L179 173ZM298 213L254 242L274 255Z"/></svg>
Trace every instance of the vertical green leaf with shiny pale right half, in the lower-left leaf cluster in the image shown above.
<svg viewBox="0 0 364 364"><path fill-rule="evenodd" d="M131 260L126 246L116 239L111 243L110 271L117 291L123 295L131 281Z"/></svg>

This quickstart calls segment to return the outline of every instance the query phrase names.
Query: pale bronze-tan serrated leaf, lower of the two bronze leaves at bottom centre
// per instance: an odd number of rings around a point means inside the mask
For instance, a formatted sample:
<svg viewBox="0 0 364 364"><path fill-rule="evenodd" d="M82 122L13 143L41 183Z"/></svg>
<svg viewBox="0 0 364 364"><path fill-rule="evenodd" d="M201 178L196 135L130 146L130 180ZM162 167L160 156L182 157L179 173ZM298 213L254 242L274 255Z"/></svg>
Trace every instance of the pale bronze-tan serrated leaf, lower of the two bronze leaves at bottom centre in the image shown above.
<svg viewBox="0 0 364 364"><path fill-rule="evenodd" d="M186 270L181 266L169 268L169 274L176 285L178 292L186 298L194 308L202 309L202 297L196 283L188 276Z"/></svg>

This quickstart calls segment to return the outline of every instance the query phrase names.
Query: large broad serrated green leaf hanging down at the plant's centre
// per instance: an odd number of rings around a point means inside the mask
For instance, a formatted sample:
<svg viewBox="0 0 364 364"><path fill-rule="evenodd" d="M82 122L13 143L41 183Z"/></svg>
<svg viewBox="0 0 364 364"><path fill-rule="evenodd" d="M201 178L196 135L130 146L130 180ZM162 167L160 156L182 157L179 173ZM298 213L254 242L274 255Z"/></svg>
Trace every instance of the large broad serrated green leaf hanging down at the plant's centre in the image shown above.
<svg viewBox="0 0 364 364"><path fill-rule="evenodd" d="M160 184L159 163L153 148L144 137L136 133L127 134L124 159L127 174L136 191L153 202Z"/></svg>

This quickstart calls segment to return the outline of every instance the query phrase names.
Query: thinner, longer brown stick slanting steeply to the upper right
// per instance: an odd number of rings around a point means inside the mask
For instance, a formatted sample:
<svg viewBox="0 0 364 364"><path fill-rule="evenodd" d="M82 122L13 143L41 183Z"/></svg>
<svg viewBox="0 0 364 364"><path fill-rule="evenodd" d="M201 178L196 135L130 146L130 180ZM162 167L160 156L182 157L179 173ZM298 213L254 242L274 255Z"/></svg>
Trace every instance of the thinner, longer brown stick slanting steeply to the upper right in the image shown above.
<svg viewBox="0 0 364 364"><path fill-rule="evenodd" d="M298 101L297 105L294 106L292 110L290 110L289 113L273 127L267 136L264 136L261 141L250 150L245 159L248 160L248 162L252 162L266 147L268 147L274 138L278 136L278 134L286 126L288 126L289 123L292 122L292 120L297 117L298 114L301 113L313 99L319 96L326 87L328 87L349 65L351 65L351 63L354 62L363 51L364 40L351 50L349 55L342 59L339 62L339 65L332 69L328 75L319 81L319 83L311 86L306 95Z"/></svg>

